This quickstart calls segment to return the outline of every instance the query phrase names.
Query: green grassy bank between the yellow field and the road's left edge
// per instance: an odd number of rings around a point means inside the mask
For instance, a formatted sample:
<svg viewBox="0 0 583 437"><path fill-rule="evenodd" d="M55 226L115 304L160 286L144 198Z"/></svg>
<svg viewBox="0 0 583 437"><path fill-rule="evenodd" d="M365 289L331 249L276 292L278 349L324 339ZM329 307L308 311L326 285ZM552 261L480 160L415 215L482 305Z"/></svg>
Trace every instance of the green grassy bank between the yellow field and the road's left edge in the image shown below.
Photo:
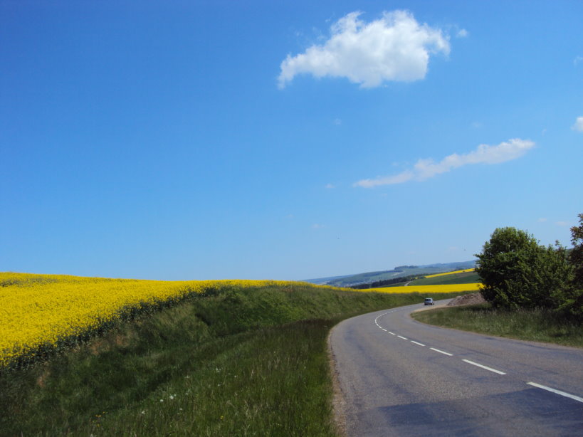
<svg viewBox="0 0 583 437"><path fill-rule="evenodd" d="M334 436L326 338L424 296L233 288L0 373L0 436Z"/></svg>

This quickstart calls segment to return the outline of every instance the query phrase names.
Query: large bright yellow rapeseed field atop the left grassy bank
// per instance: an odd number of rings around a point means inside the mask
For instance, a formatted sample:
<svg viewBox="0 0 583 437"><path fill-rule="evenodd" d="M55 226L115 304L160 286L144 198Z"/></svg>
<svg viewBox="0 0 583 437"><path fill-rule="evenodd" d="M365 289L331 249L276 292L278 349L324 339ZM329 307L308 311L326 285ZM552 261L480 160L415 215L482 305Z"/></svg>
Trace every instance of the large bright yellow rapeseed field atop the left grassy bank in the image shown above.
<svg viewBox="0 0 583 437"><path fill-rule="evenodd" d="M123 309L236 285L285 285L283 281L157 281L0 273L0 367L39 347L116 320Z"/></svg>

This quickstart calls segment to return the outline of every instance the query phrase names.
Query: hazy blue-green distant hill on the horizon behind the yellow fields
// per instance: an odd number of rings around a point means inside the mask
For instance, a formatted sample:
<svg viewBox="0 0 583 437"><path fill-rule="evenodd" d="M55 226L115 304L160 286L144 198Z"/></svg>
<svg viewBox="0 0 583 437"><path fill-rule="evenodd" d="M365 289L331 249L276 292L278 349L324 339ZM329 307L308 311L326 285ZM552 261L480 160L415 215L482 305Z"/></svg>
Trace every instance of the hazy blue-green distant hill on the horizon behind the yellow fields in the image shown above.
<svg viewBox="0 0 583 437"><path fill-rule="evenodd" d="M358 273L356 275L332 276L329 278L306 279L305 282L318 285L334 285L335 287L350 287L352 285L374 283L379 280L404 278L411 275L434 275L435 273L463 270L466 268L474 268L475 266L476 260L427 265L399 265L393 270Z"/></svg>

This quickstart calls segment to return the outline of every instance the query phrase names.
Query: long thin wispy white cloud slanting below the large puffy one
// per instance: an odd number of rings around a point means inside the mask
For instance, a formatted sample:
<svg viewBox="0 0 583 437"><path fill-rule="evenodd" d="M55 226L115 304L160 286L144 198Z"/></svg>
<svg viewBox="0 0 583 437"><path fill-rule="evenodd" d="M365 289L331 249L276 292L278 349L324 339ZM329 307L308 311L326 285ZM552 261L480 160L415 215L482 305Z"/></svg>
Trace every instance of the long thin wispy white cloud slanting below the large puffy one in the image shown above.
<svg viewBox="0 0 583 437"><path fill-rule="evenodd" d="M375 179L362 179L354 183L354 186L372 188L380 185L402 184L407 181L424 181L441 173L446 173L452 169L457 169L468 164L500 164L522 157L535 143L527 139L509 139L508 142L501 142L496 146L480 144L476 150L466 154L451 154L440 162L433 159L419 159L413 169L393 176L377 177Z"/></svg>

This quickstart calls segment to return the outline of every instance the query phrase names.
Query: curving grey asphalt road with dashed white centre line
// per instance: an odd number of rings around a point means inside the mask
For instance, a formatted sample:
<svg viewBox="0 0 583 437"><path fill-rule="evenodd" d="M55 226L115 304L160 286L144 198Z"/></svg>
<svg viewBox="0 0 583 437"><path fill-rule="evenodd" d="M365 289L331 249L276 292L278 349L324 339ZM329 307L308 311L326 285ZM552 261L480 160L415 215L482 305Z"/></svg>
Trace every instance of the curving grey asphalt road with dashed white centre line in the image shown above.
<svg viewBox="0 0 583 437"><path fill-rule="evenodd" d="M583 436L583 349L424 325L421 307L332 330L348 436Z"/></svg>

